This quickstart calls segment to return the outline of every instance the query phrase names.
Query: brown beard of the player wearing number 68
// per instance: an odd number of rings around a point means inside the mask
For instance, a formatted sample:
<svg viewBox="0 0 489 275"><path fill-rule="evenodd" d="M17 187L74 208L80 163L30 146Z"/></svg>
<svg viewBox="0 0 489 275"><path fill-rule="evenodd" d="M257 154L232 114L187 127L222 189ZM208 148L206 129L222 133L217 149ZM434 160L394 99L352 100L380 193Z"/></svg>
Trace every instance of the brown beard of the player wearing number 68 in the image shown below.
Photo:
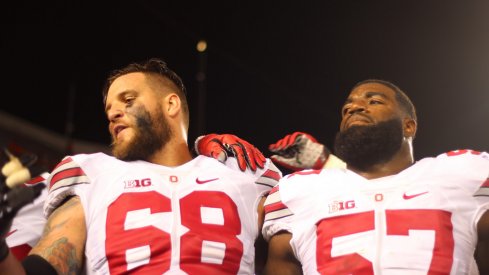
<svg viewBox="0 0 489 275"><path fill-rule="evenodd" d="M121 160L148 160L171 139L172 131L161 108L154 116L144 108L134 112L134 136L127 143L112 142L112 154Z"/></svg>

